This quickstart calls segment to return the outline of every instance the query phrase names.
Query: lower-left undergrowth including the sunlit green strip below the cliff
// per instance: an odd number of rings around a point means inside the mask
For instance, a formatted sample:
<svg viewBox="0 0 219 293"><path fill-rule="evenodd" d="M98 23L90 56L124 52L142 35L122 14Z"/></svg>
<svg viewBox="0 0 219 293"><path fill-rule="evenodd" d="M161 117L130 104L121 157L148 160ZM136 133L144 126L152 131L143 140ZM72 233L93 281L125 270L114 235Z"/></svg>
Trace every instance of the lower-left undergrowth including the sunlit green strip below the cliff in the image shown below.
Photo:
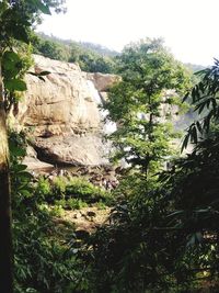
<svg viewBox="0 0 219 293"><path fill-rule="evenodd" d="M25 147L25 135L12 132L14 291L87 292L85 264L72 249L80 230L61 216L90 204L105 209L113 204L112 195L80 178L34 179L22 165Z"/></svg>

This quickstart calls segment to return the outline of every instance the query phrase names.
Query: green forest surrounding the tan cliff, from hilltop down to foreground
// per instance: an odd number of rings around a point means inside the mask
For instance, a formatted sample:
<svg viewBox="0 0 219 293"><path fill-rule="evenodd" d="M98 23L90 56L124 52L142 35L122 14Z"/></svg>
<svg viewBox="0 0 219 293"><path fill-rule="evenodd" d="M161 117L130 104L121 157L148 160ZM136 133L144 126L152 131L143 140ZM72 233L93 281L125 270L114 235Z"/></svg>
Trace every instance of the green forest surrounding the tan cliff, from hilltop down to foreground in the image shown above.
<svg viewBox="0 0 219 293"><path fill-rule="evenodd" d="M218 292L219 60L194 75L159 38L118 54L34 32L43 14L62 11L62 0L0 1L0 292ZM30 71L32 54L120 77L103 105L118 125L105 137L116 187L35 177L23 164L32 137L10 113L26 74L49 75ZM104 221L77 229L67 216L76 211Z"/></svg>

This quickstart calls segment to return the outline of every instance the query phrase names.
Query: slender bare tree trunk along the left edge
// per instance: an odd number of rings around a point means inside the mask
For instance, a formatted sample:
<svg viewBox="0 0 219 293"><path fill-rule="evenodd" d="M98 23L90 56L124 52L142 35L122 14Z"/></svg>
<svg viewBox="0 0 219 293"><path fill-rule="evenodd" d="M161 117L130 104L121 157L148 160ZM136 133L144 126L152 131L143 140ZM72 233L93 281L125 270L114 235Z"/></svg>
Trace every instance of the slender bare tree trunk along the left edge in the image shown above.
<svg viewBox="0 0 219 293"><path fill-rule="evenodd" d="M7 115L0 64L0 293L12 293L11 194Z"/></svg>

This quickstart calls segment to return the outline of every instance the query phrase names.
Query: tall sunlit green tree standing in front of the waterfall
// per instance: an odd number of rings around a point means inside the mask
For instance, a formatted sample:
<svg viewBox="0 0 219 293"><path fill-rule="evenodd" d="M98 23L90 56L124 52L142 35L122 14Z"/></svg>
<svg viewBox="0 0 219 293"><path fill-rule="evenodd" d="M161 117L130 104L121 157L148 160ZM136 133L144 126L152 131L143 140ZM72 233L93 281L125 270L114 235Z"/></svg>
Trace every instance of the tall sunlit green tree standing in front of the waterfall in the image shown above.
<svg viewBox="0 0 219 293"><path fill-rule="evenodd" d="M180 105L176 91L181 93L188 84L188 75L160 40L130 44L118 64L123 80L112 88L105 105L108 119L118 124L110 138L116 148L115 158L125 158L148 174L171 155L172 105ZM166 94L173 89L175 92ZM163 108L166 110L161 114Z"/></svg>

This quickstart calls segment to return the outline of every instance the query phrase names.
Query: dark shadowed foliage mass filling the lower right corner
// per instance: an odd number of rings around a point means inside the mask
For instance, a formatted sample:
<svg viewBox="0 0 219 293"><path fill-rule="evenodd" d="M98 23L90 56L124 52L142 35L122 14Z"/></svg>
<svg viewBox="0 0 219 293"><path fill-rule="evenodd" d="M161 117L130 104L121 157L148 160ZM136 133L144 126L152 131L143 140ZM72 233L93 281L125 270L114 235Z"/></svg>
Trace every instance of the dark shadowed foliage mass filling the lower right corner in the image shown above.
<svg viewBox="0 0 219 293"><path fill-rule="evenodd" d="M97 292L196 292L205 282L218 291L216 122L192 154L172 161L153 182L126 177L111 224L88 241Z"/></svg>

